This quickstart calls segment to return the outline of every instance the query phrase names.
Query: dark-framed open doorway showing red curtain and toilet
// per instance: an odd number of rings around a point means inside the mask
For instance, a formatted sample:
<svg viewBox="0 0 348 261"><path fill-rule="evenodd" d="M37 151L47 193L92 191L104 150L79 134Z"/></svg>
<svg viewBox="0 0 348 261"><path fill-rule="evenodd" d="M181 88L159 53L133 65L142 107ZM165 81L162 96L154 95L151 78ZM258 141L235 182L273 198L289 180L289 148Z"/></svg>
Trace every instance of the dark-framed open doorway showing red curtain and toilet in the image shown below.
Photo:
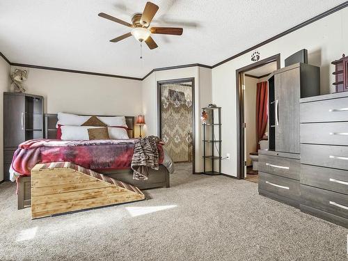
<svg viewBox="0 0 348 261"><path fill-rule="evenodd" d="M258 150L269 149L269 75L280 68L280 54L236 71L237 177L258 183Z"/></svg>

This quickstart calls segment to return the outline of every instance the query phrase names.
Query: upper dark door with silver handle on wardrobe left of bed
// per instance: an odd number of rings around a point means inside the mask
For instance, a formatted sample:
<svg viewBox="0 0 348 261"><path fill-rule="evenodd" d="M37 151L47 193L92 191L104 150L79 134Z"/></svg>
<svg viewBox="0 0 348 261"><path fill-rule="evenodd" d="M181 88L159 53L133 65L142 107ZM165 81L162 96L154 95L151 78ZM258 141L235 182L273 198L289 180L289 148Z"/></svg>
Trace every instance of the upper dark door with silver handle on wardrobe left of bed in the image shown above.
<svg viewBox="0 0 348 261"><path fill-rule="evenodd" d="M5 95L3 99L4 147L17 147L25 141L24 95Z"/></svg>

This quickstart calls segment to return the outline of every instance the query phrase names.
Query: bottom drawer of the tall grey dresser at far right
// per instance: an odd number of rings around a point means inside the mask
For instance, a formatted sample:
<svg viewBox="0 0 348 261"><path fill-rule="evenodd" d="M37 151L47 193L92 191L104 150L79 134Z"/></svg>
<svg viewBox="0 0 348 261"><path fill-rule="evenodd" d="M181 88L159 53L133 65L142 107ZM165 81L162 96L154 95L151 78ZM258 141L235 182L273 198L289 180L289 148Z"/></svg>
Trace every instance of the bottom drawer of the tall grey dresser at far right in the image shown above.
<svg viewBox="0 0 348 261"><path fill-rule="evenodd" d="M301 184L301 204L348 218L348 196Z"/></svg>

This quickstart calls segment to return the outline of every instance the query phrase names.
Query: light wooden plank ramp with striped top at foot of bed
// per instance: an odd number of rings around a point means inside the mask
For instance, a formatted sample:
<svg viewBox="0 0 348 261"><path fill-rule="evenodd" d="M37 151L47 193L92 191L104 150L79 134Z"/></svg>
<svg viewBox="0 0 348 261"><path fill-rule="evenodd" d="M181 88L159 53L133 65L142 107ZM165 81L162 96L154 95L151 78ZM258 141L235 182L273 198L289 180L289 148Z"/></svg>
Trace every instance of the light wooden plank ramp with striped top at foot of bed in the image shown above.
<svg viewBox="0 0 348 261"><path fill-rule="evenodd" d="M136 187L59 162L31 170L31 218L145 199Z"/></svg>

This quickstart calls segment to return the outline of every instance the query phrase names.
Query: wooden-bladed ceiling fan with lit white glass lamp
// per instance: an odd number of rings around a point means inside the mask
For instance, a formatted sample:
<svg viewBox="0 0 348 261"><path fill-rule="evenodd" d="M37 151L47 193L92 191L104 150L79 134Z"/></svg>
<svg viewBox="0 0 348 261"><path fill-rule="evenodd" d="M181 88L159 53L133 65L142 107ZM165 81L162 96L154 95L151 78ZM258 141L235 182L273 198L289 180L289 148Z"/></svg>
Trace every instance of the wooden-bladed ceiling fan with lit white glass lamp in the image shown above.
<svg viewBox="0 0 348 261"><path fill-rule="evenodd" d="M157 10L159 7L155 5L155 3L147 2L146 6L143 10L143 13L136 13L132 17L132 24L129 24L128 22L122 21L121 19L118 19L116 17L113 17L111 15L107 15L106 13L100 13L98 14L100 17L103 17L105 19L109 19L113 22L116 22L118 24L123 24L125 26L128 26L129 28L132 28L132 31L130 33L125 33L124 35L120 35L116 38L113 38L110 40L110 42L119 42L120 40L123 40L125 38L129 38L130 36L134 36L136 40L139 40L139 42L145 42L146 45L150 49L155 49L158 47L155 40L152 39L151 34L157 33L157 34L167 34L167 35L182 35L182 28L176 28L176 27L151 27L150 23L157 13Z"/></svg>

